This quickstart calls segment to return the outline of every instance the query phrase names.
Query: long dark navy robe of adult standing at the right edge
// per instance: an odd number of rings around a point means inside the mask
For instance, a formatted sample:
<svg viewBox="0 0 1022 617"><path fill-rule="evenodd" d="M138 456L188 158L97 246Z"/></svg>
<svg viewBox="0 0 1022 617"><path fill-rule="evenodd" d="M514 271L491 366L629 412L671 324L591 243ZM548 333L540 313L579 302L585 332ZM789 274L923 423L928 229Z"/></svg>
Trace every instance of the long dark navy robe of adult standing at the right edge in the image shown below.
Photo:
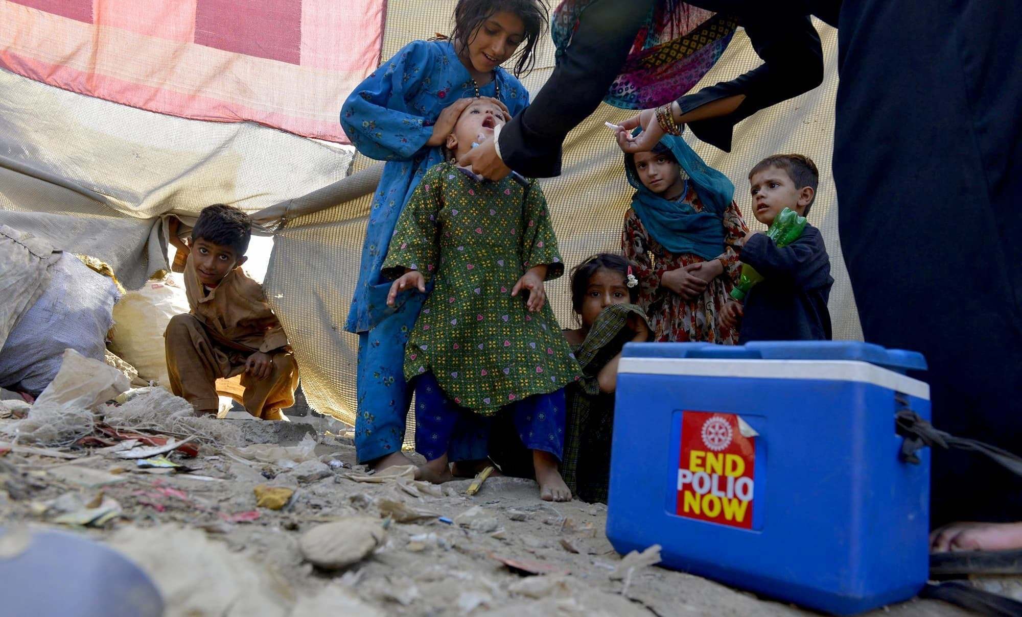
<svg viewBox="0 0 1022 617"><path fill-rule="evenodd" d="M1020 30L1017 1L844 2L833 163L866 340L926 355L933 426L1015 453ZM984 457L934 452L932 472L933 526L1022 520L1022 481Z"/></svg>

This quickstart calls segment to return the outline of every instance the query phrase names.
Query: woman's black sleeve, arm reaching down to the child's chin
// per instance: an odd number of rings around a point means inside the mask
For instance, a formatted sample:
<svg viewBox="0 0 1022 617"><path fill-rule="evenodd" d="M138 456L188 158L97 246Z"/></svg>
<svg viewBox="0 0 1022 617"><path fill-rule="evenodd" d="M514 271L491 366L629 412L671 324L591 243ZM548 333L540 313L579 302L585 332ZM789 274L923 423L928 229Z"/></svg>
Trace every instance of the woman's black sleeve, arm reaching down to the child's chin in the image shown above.
<svg viewBox="0 0 1022 617"><path fill-rule="evenodd" d="M561 144L596 109L655 0L595 0L532 103L501 130L504 164L529 178L561 173Z"/></svg>

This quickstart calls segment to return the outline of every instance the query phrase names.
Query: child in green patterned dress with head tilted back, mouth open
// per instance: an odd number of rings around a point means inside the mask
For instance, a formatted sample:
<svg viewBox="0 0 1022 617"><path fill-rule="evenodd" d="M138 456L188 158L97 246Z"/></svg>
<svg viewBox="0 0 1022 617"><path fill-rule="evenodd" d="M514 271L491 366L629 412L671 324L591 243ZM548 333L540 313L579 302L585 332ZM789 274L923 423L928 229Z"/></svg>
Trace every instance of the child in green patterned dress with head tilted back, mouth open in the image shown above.
<svg viewBox="0 0 1022 617"><path fill-rule="evenodd" d="M492 138L507 117L480 99L448 138L455 157ZM536 181L480 182L454 162L430 169L398 221L383 263L396 278L388 303L424 293L434 280L405 353L405 376L420 380L416 449L420 477L453 478L450 463L485 457L491 419L510 414L532 450L541 496L567 501L558 472L564 445L564 386L578 365L544 281L564 273L546 199ZM463 452L452 436L475 435ZM462 440L459 439L459 440Z"/></svg>

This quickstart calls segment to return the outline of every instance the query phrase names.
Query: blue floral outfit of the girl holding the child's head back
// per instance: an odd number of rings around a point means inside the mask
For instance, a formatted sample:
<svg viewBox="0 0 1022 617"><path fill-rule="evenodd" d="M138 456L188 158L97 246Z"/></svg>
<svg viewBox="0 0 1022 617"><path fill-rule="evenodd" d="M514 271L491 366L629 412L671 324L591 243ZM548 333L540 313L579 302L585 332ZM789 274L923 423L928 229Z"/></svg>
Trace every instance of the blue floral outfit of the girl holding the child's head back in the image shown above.
<svg viewBox="0 0 1022 617"><path fill-rule="evenodd" d="M528 92L511 74L495 70L479 87L497 96L512 114L528 104ZM411 392L405 382L405 344L424 296L402 294L386 305L390 281L380 275L398 218L426 170L440 162L439 148L427 148L440 111L475 87L448 41L415 41L366 78L349 96L340 123L359 152L387 161L369 211L359 282L345 329L359 334L356 376L358 415L355 445L360 462L401 449Z"/></svg>

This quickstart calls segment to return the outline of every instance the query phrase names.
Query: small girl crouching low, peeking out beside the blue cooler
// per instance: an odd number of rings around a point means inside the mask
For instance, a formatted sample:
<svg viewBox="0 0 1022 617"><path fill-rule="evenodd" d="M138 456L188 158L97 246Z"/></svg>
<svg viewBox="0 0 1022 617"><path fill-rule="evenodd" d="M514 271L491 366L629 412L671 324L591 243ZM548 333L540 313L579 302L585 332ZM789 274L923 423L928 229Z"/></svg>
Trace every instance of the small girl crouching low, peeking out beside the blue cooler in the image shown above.
<svg viewBox="0 0 1022 617"><path fill-rule="evenodd" d="M565 388L561 475L584 502L607 503L617 363L624 343L650 338L646 314L635 304L638 298L639 280L620 255L593 255L571 273L571 307L582 327L565 330L564 336L582 365L583 378Z"/></svg>

